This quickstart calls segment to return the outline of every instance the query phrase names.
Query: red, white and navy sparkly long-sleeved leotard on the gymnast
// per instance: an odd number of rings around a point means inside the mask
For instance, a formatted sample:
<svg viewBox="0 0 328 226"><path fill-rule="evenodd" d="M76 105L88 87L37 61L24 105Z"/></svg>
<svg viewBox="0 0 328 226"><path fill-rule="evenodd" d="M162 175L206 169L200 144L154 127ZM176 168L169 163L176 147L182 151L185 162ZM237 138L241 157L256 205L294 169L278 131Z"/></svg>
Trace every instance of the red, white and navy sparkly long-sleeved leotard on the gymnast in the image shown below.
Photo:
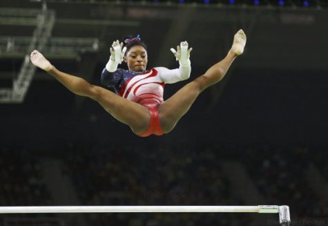
<svg viewBox="0 0 328 226"><path fill-rule="evenodd" d="M113 73L106 68L102 71L102 84L113 87L115 93L121 97L145 106L151 115L148 130L139 136L151 134L162 135L158 106L164 102L164 86L166 83L175 83L187 79L190 75L190 66L169 70L168 68L153 68L142 73L117 69Z"/></svg>

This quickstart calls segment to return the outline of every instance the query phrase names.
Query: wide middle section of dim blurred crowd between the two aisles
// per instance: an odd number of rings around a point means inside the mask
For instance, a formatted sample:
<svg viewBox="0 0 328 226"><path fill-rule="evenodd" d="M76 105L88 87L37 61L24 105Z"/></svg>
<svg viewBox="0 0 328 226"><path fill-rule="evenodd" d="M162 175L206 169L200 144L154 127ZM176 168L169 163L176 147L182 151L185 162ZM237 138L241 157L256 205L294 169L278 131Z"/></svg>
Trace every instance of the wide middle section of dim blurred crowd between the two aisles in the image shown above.
<svg viewBox="0 0 328 226"><path fill-rule="evenodd" d="M74 147L66 172L83 205L234 205L218 156L205 149ZM210 214L90 216L95 225L231 225Z"/></svg>

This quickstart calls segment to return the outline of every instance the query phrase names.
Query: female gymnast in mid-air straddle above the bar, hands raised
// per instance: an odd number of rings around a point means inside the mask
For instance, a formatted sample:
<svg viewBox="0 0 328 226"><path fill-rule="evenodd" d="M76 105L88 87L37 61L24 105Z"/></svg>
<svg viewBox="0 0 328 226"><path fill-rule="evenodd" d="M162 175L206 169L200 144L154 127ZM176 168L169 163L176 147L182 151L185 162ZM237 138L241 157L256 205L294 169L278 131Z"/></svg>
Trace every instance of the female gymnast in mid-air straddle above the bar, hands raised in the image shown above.
<svg viewBox="0 0 328 226"><path fill-rule="evenodd" d="M239 30L234 35L232 47L224 59L166 101L163 100L164 85L188 79L191 73L191 48L188 49L188 43L182 42L177 46L177 50L171 48L180 63L179 68L169 70L158 67L146 70L148 58L145 44L139 36L126 39L125 42L123 49L119 41L113 42L110 59L102 72L102 84L113 87L115 93L89 84L80 77L61 72L37 50L32 51L30 60L73 93L97 101L110 115L130 126L136 135L146 137L173 130L180 118L189 111L197 96L209 86L220 82L233 60L243 53L246 35L243 30ZM122 61L126 62L128 70L117 69Z"/></svg>

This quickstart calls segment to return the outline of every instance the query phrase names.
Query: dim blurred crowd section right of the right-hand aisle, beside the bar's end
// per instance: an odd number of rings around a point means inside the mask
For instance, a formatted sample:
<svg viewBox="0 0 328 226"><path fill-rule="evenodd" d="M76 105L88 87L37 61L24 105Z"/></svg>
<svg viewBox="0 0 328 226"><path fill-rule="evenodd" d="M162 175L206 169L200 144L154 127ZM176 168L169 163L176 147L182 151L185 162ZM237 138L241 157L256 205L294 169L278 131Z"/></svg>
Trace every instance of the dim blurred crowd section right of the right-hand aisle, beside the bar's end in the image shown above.
<svg viewBox="0 0 328 226"><path fill-rule="evenodd" d="M320 207L321 197L307 179L309 164L318 153L304 147L269 146L243 151L247 158L242 163L268 203L278 200L280 205L289 205L300 218L328 216L328 208Z"/></svg>

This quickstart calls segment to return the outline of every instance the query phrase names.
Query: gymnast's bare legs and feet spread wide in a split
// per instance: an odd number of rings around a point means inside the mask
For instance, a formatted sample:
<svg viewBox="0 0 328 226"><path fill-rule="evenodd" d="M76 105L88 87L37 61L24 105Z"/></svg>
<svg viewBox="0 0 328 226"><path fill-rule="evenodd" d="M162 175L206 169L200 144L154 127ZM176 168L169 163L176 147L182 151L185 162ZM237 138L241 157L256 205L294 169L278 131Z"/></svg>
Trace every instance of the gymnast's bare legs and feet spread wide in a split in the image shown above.
<svg viewBox="0 0 328 226"><path fill-rule="evenodd" d="M224 59L209 68L204 75L186 84L175 95L160 104L158 110L160 124L164 133L169 133L173 130L177 122L189 111L191 105L202 91L220 82L234 59L243 53L245 44L246 35L242 30L239 30L234 36L231 50L229 50ZM108 91L106 88L89 84L85 79L61 72L50 64L37 50L31 53L30 59L32 64L46 70L47 73L55 77L73 93L90 97L97 101L110 115L130 126L135 134L139 135L148 129L151 116L148 109L141 104L126 100Z"/></svg>

